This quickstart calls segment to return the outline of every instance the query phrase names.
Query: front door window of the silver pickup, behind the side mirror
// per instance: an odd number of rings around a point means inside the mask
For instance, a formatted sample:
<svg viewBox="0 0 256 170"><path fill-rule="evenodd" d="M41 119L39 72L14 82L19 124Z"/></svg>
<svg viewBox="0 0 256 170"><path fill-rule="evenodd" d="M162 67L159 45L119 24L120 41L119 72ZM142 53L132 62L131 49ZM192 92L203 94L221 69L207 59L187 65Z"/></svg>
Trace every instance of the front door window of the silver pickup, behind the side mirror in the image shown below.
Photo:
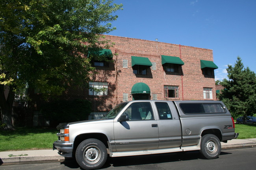
<svg viewBox="0 0 256 170"><path fill-rule="evenodd" d="M127 115L132 121L154 119L150 102L132 103L122 115Z"/></svg>

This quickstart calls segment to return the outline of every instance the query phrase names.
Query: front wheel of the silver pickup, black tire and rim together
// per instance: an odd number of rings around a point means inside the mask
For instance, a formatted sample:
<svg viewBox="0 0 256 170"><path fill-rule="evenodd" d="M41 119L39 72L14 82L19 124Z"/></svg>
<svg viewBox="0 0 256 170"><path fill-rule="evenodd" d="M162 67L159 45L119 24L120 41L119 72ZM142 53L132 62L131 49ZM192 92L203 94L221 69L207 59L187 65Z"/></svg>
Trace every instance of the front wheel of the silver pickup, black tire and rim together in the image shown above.
<svg viewBox="0 0 256 170"><path fill-rule="evenodd" d="M107 157L106 146L98 139L86 139L76 148L76 162L85 170L101 168Z"/></svg>

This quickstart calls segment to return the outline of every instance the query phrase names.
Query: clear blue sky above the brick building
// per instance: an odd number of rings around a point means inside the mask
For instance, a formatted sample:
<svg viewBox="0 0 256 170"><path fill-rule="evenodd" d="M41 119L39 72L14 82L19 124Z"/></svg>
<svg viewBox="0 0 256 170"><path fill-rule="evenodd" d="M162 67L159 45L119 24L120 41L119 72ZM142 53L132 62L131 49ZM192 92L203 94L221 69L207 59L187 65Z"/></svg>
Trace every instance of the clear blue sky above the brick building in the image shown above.
<svg viewBox="0 0 256 170"><path fill-rule="evenodd" d="M215 80L240 56L256 72L256 0L115 0L123 10L109 35L213 50Z"/></svg>

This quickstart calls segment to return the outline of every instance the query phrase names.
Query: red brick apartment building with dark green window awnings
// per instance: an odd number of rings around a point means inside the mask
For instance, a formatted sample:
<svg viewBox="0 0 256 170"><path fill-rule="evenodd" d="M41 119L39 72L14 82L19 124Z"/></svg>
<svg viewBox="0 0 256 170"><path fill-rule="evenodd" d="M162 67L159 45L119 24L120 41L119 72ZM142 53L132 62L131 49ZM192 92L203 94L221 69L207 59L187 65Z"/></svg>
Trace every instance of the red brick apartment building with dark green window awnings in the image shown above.
<svg viewBox="0 0 256 170"><path fill-rule="evenodd" d="M115 45L99 55L110 53L113 62L95 57L98 74L89 82L91 87L105 91L76 89L66 91L63 98L87 99L96 113L133 99L216 100L214 69L218 67L211 49L111 35L106 39ZM35 113L37 104L32 103L30 110Z"/></svg>

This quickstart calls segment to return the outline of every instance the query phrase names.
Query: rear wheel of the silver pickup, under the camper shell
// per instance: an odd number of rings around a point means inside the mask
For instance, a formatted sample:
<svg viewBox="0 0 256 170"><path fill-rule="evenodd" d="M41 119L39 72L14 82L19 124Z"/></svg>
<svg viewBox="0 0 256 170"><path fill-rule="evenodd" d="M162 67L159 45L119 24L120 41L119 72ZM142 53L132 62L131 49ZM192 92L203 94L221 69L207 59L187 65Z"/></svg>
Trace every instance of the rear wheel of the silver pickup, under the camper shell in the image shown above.
<svg viewBox="0 0 256 170"><path fill-rule="evenodd" d="M204 135L201 139L200 153L206 159L215 159L221 153L221 142L219 138L213 134Z"/></svg>

